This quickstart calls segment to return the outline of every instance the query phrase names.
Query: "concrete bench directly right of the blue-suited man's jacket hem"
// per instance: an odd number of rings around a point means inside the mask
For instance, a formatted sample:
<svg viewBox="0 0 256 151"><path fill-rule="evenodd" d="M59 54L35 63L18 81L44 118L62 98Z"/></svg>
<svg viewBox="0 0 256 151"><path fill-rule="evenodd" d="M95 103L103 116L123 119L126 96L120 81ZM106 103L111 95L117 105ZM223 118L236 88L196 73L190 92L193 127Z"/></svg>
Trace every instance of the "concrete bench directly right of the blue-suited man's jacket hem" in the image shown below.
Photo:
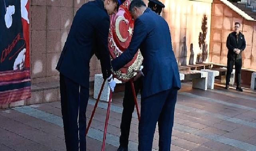
<svg viewBox="0 0 256 151"><path fill-rule="evenodd" d="M180 78L183 75L185 81L192 81L193 88L207 90L208 72L198 70L180 71Z"/></svg>

